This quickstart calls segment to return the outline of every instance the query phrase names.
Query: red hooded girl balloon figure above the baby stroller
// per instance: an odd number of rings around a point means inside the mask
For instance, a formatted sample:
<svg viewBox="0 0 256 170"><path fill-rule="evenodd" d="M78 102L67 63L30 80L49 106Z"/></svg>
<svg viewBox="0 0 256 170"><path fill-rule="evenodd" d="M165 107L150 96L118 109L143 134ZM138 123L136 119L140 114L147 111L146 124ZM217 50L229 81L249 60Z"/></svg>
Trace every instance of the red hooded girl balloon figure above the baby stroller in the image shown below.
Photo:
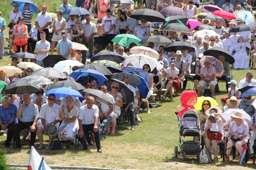
<svg viewBox="0 0 256 170"><path fill-rule="evenodd" d="M187 110L195 109L194 105L197 103L197 93L195 90L185 91L181 95L182 105L177 106L177 108L183 108L178 111L178 115L182 117L183 113Z"/></svg>

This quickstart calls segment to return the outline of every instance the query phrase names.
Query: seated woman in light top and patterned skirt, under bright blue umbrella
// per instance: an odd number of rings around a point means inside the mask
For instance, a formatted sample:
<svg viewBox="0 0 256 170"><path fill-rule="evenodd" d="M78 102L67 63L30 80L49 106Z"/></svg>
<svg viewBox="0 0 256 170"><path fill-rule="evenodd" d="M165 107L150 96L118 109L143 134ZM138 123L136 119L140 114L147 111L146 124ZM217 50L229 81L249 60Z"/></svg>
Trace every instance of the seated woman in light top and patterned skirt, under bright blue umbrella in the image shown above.
<svg viewBox="0 0 256 170"><path fill-rule="evenodd" d="M74 97L67 95L65 97L67 105L61 107L60 119L62 123L58 129L58 136L60 141L67 141L67 148L70 144L74 145L75 135L78 133L78 108L73 105Z"/></svg>

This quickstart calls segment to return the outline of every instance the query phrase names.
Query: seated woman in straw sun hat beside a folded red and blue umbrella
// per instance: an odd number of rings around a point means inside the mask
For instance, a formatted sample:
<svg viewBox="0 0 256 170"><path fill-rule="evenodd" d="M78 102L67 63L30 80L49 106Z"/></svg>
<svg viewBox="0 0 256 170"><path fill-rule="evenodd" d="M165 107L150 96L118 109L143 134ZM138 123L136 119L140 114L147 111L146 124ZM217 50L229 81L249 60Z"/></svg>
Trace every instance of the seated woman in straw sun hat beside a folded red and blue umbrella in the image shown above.
<svg viewBox="0 0 256 170"><path fill-rule="evenodd" d="M239 154L242 155L243 152L243 145L245 145L248 141L248 124L244 121L243 114L239 111L236 111L234 114L230 115L234 118L234 121L231 122L228 134L229 136L233 136L233 139L241 138L241 140L234 142L232 139L229 139L227 142L227 150L226 150L226 158L225 162L229 161L229 154L232 149L232 146L235 145L236 149L238 150Z"/></svg>

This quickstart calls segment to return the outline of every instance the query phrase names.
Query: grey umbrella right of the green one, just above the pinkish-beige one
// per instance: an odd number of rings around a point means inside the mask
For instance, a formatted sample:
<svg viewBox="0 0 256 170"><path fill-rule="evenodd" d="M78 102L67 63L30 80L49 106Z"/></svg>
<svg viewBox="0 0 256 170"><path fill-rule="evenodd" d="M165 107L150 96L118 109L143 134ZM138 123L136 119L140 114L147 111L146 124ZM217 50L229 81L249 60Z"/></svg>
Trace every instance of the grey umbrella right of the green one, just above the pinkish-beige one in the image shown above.
<svg viewBox="0 0 256 170"><path fill-rule="evenodd" d="M165 47L172 43L169 38L159 35L148 36L141 40L139 43L143 46L147 46L149 42L154 43L154 47L159 47L161 45Z"/></svg>

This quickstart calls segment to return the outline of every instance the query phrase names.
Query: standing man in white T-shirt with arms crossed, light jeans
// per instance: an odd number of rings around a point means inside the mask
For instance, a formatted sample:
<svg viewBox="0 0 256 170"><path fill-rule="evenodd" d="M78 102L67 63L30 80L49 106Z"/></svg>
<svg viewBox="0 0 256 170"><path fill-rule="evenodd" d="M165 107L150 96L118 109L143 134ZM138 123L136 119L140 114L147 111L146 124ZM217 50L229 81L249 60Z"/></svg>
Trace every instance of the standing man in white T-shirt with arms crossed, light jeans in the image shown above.
<svg viewBox="0 0 256 170"><path fill-rule="evenodd" d="M43 59L48 56L51 44L46 41L46 34L44 31L40 32L40 41L35 45L35 53L37 54L37 64L40 66L43 65Z"/></svg>

